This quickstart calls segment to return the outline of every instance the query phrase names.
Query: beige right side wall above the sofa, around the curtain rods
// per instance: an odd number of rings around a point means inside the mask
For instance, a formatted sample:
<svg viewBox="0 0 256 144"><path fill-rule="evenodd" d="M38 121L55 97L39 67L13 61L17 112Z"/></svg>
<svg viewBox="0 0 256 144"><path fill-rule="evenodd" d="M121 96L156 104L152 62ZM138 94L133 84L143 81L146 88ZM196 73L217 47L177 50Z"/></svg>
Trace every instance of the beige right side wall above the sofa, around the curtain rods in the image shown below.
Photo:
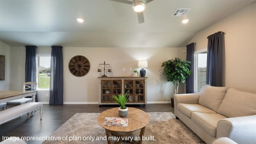
<svg viewBox="0 0 256 144"><path fill-rule="evenodd" d="M198 32L189 42L195 51L207 48L207 36L225 37L225 86L256 93L256 3Z"/></svg>

